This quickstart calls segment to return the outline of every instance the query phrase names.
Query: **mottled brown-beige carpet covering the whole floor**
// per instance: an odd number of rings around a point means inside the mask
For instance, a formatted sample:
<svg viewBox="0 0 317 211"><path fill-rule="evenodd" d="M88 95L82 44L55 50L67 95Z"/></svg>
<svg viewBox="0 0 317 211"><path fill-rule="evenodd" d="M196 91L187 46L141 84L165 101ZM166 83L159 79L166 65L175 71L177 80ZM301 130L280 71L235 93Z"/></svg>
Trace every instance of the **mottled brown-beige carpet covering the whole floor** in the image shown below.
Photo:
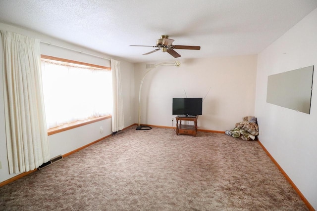
<svg viewBox="0 0 317 211"><path fill-rule="evenodd" d="M0 187L1 211L305 211L257 141L131 127Z"/></svg>

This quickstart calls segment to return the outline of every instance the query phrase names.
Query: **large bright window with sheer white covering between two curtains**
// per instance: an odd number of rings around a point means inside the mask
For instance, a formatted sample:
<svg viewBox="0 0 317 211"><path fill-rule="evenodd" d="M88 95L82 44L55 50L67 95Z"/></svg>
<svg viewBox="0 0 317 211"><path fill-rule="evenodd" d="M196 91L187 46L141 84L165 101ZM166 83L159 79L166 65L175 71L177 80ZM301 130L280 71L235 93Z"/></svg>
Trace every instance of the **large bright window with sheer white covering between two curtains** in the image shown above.
<svg viewBox="0 0 317 211"><path fill-rule="evenodd" d="M111 114L110 68L47 58L42 56L41 63L48 129Z"/></svg>

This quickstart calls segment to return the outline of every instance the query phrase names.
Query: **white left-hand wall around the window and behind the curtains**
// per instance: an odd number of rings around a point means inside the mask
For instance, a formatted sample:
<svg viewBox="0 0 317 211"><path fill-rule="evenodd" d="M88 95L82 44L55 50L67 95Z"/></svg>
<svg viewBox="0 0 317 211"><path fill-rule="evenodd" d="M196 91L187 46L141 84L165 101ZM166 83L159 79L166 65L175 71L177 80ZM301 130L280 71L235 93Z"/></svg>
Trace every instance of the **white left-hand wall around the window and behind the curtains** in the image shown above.
<svg viewBox="0 0 317 211"><path fill-rule="evenodd" d="M71 49L80 50L83 52L91 53L94 55L103 56L110 58L110 56L101 54L99 52L94 52L89 49L82 48L67 42L62 42L60 40L53 39L49 36L45 36L36 32L27 31L18 27L10 26L7 24L0 23L0 30L11 31L19 33L25 36L40 39L44 42L52 42L60 46L68 47ZM7 163L7 152L6 152L6 141L5 141L5 122L4 122L4 106L3 106L3 87L2 87L2 42L0 42L0 161L2 164L2 169L0 169L0 182L5 181L16 174L8 173L8 163ZM55 56L75 61L81 61L96 65L102 65L110 67L110 61L102 58L89 56L83 53L78 53L71 50L66 50L53 45L41 43L41 53L49 56ZM124 106L124 123L125 127L134 124L134 65L130 62L126 62L121 58L114 58L121 61L121 80L122 80L122 90L123 94L123 106ZM131 117L131 120L130 120ZM100 132L100 127L104 128L104 132ZM57 155L63 155L78 149L86 144L96 141L111 134L111 119L106 119L93 124L85 125L82 127L76 127L71 130L66 130L60 133L56 133L49 136L51 158Z"/></svg>

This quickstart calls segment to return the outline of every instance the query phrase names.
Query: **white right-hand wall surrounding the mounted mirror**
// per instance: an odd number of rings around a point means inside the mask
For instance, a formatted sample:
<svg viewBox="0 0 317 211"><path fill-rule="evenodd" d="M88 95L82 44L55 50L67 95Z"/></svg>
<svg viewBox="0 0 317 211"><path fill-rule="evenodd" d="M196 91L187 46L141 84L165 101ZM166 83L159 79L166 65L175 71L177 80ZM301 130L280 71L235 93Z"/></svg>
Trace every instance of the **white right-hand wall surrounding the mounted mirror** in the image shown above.
<svg viewBox="0 0 317 211"><path fill-rule="evenodd" d="M266 103L269 75L317 67L317 9L259 54L255 115L264 147L317 210L317 79L311 114Z"/></svg>

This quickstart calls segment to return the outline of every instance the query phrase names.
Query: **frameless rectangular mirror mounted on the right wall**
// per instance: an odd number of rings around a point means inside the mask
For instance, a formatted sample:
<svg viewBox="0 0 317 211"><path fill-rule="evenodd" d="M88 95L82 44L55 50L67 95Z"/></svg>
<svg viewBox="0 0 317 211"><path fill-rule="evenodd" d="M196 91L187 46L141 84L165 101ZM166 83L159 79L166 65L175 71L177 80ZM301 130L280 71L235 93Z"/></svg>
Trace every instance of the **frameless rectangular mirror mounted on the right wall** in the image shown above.
<svg viewBox="0 0 317 211"><path fill-rule="evenodd" d="M310 114L314 66L267 77L266 102Z"/></svg>

